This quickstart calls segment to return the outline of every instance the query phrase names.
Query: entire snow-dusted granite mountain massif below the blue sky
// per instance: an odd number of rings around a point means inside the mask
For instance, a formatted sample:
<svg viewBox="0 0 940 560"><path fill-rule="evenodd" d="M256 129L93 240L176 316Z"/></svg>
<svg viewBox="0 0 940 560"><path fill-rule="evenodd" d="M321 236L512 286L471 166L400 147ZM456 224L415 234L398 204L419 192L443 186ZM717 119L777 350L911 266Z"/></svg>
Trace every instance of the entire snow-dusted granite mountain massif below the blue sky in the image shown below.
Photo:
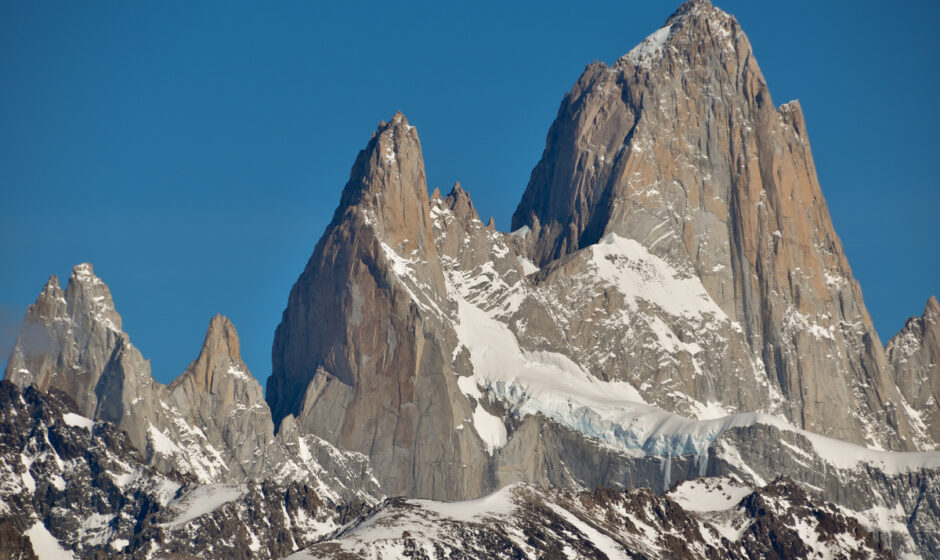
<svg viewBox="0 0 940 560"><path fill-rule="evenodd" d="M511 233L381 123L266 395L223 317L164 386L91 265L51 278L0 391L0 531L23 557L936 557L938 321L882 345L799 104L688 2L585 69Z"/></svg>

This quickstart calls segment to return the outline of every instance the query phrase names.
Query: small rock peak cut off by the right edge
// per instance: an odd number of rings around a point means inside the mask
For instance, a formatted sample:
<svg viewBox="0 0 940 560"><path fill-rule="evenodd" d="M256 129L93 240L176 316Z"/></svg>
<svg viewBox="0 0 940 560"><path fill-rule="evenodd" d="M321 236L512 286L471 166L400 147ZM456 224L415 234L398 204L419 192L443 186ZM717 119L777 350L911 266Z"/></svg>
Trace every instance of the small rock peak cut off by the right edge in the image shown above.
<svg viewBox="0 0 940 560"><path fill-rule="evenodd" d="M927 300L924 314L907 320L885 351L905 408L933 439L940 442L940 305Z"/></svg>

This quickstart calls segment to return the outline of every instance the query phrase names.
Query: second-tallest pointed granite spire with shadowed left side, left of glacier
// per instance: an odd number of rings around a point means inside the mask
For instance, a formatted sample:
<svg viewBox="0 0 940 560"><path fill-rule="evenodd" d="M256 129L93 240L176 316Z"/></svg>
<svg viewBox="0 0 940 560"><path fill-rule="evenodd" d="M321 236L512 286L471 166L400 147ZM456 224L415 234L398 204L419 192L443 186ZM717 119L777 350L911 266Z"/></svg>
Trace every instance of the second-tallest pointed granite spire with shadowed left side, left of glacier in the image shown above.
<svg viewBox="0 0 940 560"><path fill-rule="evenodd" d="M453 316L431 231L417 132L403 115L359 153L340 205L277 328L268 402L278 420L367 454L390 494L486 487L483 450L451 368Z"/></svg>

